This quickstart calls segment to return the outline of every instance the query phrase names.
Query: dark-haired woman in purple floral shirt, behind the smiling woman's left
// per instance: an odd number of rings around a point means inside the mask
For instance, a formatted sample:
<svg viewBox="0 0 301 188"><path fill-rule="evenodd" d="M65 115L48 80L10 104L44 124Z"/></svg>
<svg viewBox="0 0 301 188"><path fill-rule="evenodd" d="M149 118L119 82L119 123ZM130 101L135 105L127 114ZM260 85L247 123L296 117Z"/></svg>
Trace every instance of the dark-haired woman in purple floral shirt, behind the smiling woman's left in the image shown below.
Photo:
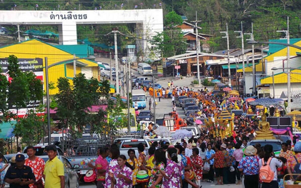
<svg viewBox="0 0 301 188"><path fill-rule="evenodd" d="M113 173L116 171L118 166L117 158L120 155L119 148L116 145L112 145L110 148L110 158L112 159L109 163L107 170L106 170L106 179L105 179L105 188L111 188L111 177L109 176L109 173Z"/></svg>

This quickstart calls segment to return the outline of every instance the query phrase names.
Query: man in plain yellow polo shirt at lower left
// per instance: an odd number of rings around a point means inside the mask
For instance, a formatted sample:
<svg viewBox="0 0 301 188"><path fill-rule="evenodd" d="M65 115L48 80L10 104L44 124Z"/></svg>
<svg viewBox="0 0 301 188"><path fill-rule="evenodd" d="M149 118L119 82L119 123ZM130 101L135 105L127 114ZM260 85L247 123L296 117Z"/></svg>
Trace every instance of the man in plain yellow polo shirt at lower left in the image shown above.
<svg viewBox="0 0 301 188"><path fill-rule="evenodd" d="M49 160L45 164L43 173L45 180L45 188L64 188L64 165L57 158L57 148L54 145L49 145L46 148Z"/></svg>

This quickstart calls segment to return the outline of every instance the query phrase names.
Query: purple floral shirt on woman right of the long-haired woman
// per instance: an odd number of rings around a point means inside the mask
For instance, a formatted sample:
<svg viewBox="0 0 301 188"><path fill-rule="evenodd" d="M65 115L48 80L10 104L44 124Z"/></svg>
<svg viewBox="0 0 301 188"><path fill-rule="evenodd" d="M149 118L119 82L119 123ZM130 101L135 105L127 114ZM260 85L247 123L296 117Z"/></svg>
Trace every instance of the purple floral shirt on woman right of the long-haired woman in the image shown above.
<svg viewBox="0 0 301 188"><path fill-rule="evenodd" d="M166 164L165 174L169 178L166 179L163 177L162 188L181 187L180 178L183 175L183 171L177 163L173 162L172 160L169 160Z"/></svg>

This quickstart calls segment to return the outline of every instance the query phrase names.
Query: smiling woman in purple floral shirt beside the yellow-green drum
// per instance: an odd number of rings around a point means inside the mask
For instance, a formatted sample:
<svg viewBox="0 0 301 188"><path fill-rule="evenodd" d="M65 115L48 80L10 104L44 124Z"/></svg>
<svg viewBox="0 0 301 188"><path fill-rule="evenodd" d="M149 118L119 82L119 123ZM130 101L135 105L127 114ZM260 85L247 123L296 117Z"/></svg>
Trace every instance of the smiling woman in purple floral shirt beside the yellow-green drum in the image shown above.
<svg viewBox="0 0 301 188"><path fill-rule="evenodd" d="M121 155L117 159L118 168L113 173L110 172L111 183L114 188L131 188L133 178L133 167L126 162L126 156Z"/></svg>

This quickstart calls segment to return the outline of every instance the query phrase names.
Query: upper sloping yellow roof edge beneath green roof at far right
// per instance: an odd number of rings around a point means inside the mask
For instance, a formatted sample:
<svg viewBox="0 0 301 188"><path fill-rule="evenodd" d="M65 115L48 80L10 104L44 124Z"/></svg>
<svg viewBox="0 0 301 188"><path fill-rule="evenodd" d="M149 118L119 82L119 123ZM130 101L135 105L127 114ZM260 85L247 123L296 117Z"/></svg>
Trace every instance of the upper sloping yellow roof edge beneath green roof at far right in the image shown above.
<svg viewBox="0 0 301 188"><path fill-rule="evenodd" d="M301 41L298 41L296 43L294 43L294 45L296 46L301 46ZM289 47L290 48L290 56L295 56L296 52L301 52L301 50L297 49L297 48L293 48L293 47ZM266 57L264 57L264 59L266 59L268 62L274 61L275 57L283 57L283 56L287 56L287 48L283 48L282 50L279 50L271 55L268 55ZM256 72L262 72L262 60L259 61L259 64L256 65ZM245 72L252 72L252 66L251 67L247 67L245 68ZM238 69L237 72L243 72L243 69Z"/></svg>

